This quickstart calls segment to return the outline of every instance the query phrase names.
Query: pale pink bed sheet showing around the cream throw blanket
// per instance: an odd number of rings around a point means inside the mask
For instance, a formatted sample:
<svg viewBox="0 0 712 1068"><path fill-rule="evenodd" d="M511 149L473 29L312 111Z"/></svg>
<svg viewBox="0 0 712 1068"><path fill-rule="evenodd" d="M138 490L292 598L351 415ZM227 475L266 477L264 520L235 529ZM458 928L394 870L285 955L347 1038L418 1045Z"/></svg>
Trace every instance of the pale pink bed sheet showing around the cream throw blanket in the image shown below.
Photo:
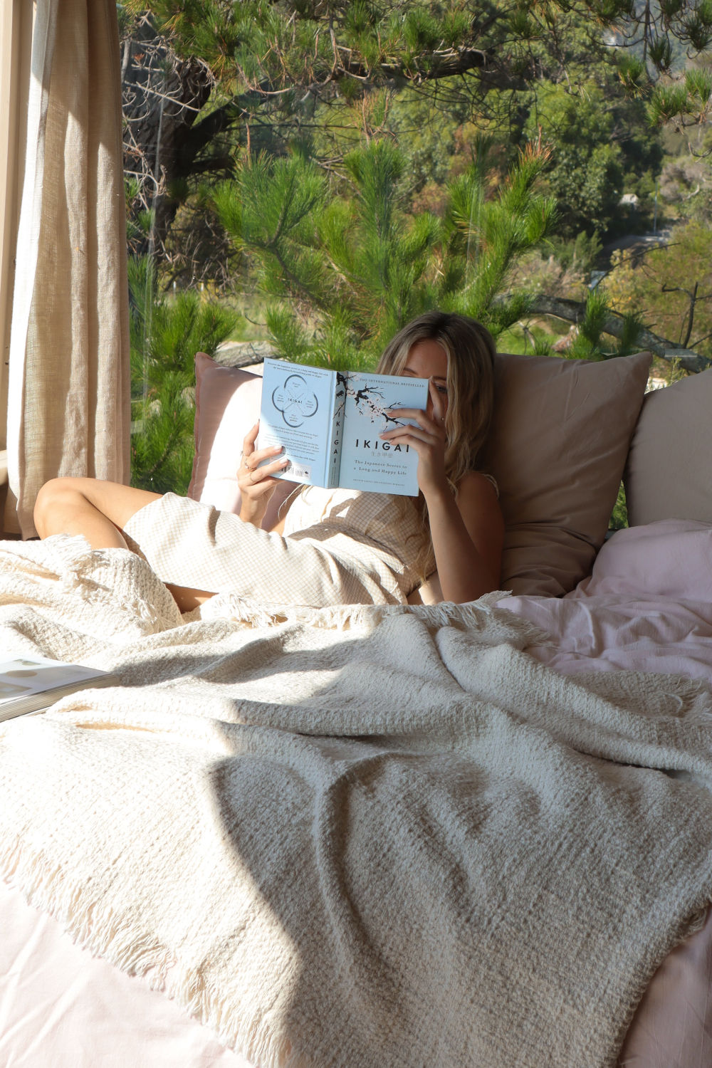
<svg viewBox="0 0 712 1068"><path fill-rule="evenodd" d="M712 528L705 524L619 532L591 578L567 597L512 597L501 604L549 631L553 641L529 651L564 673L675 672L712 685ZM91 957L2 882L0 1065L253 1068L144 979ZM620 1065L712 1065L710 914L654 976Z"/></svg>

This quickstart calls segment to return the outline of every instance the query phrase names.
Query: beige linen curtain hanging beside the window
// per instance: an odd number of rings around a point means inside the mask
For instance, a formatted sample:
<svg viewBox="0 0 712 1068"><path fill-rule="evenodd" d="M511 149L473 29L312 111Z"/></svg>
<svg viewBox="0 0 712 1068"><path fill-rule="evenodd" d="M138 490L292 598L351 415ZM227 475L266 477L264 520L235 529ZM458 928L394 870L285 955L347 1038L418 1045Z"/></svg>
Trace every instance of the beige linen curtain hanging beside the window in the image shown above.
<svg viewBox="0 0 712 1068"><path fill-rule="evenodd" d="M5 532L57 475L127 482L129 342L115 0L36 0L7 372Z"/></svg>

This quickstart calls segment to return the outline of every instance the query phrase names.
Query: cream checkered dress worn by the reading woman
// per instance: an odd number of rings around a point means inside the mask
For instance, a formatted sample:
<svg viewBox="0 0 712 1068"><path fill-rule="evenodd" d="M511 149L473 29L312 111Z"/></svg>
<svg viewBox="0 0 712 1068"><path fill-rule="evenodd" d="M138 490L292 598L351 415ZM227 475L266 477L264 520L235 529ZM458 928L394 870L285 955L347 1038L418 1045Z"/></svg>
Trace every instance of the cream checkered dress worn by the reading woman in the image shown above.
<svg viewBox="0 0 712 1068"><path fill-rule="evenodd" d="M404 603L428 565L413 502L387 493L310 487L284 536L167 493L125 533L163 582L280 603Z"/></svg>

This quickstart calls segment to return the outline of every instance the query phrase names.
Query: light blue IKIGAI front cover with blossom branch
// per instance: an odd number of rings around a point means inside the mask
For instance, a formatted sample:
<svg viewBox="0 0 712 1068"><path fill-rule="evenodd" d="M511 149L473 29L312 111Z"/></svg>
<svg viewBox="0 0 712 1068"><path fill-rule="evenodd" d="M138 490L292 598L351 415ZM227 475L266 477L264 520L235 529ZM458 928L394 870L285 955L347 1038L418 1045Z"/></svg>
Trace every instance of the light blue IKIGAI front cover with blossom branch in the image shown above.
<svg viewBox="0 0 712 1068"><path fill-rule="evenodd" d="M417 496L417 453L408 445L379 437L393 429L389 408L418 408L428 404L427 378L349 372L342 443L339 486L376 493ZM413 422L401 421L401 422Z"/></svg>

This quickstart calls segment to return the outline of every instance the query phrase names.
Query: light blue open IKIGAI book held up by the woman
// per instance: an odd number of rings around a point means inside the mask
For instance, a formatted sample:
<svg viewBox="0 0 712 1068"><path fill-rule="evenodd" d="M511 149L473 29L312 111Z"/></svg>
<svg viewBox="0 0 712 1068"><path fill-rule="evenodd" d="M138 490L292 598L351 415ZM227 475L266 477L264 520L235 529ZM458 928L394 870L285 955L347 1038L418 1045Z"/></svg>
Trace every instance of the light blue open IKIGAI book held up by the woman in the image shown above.
<svg viewBox="0 0 712 1068"><path fill-rule="evenodd" d="M414 424L390 409L425 411L427 404L427 378L266 359L256 447L283 446L289 465L275 477L417 497L417 453L380 435Z"/></svg>

